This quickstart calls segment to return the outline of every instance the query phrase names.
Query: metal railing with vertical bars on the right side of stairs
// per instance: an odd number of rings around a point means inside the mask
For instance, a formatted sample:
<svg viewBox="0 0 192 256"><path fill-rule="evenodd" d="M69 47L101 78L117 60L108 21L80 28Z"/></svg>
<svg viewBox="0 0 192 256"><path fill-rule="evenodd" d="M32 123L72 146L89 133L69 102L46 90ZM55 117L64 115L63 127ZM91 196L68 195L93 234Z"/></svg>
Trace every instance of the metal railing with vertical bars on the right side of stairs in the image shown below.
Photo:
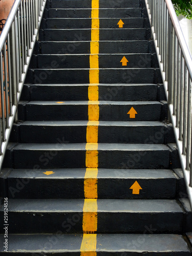
<svg viewBox="0 0 192 256"><path fill-rule="evenodd" d="M171 0L145 0L192 210L192 57Z"/></svg>

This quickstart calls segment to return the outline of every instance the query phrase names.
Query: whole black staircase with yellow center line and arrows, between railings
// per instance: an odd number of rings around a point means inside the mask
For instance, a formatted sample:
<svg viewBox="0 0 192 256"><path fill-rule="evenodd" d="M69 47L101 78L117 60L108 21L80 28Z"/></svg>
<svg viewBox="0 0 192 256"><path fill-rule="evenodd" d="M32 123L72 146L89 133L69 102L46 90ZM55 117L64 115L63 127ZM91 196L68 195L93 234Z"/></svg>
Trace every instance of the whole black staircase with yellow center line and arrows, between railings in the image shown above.
<svg viewBox="0 0 192 256"><path fill-rule="evenodd" d="M142 1L48 1L18 116L0 173L2 255L191 255Z"/></svg>

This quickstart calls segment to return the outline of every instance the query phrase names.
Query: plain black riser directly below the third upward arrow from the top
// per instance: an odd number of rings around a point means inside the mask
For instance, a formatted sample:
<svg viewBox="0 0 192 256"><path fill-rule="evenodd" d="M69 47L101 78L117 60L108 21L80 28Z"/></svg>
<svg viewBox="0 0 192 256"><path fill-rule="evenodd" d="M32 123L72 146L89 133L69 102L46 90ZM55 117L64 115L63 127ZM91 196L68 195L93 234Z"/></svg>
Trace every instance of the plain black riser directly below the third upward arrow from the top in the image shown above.
<svg viewBox="0 0 192 256"><path fill-rule="evenodd" d="M86 143L87 126L21 125L21 143L57 143L57 138L65 137L68 143ZM164 143L163 126L129 127L99 126L98 143ZM151 139L150 139L151 138Z"/></svg>

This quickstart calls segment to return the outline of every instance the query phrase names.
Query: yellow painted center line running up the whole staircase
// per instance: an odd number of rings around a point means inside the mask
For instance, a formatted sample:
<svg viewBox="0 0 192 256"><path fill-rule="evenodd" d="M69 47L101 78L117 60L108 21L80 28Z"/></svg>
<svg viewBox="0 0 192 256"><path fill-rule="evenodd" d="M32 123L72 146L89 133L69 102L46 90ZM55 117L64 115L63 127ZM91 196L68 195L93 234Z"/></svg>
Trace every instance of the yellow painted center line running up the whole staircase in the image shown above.
<svg viewBox="0 0 192 256"><path fill-rule="evenodd" d="M81 256L96 256L97 235L97 174L99 125L99 0L92 0L90 42L90 72L88 88L88 124L86 144L86 174L84 176L83 239Z"/></svg>

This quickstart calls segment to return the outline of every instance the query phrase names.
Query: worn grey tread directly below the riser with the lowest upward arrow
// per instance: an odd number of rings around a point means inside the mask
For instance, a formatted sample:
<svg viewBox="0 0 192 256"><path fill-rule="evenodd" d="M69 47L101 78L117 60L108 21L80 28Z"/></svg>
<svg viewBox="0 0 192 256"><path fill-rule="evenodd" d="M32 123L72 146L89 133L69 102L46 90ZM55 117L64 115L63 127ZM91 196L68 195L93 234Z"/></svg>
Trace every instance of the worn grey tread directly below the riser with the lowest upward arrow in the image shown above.
<svg viewBox="0 0 192 256"><path fill-rule="evenodd" d="M10 199L9 212L82 212L83 205L83 199ZM97 206L97 212L175 212L175 214L183 214L176 200L98 199ZM0 209L3 212L3 205Z"/></svg>

